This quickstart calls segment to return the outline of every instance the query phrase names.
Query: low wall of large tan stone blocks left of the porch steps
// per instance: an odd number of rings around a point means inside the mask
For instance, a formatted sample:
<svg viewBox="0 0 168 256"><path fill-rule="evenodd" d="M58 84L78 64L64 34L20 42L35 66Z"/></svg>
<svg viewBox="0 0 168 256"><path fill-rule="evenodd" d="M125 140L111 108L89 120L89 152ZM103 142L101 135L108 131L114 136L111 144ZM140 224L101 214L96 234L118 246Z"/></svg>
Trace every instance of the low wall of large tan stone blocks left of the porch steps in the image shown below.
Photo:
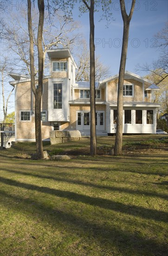
<svg viewBox="0 0 168 256"><path fill-rule="evenodd" d="M50 132L50 141L52 145L68 141L79 141L80 138L81 134L78 130Z"/></svg>

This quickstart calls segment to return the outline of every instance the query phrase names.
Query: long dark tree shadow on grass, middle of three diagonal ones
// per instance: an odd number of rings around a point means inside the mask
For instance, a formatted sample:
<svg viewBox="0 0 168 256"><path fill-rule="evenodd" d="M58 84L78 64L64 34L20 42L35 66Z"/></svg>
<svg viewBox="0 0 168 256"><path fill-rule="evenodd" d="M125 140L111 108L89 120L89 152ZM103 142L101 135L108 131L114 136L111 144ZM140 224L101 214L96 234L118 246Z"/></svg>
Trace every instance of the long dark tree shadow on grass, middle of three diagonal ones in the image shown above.
<svg viewBox="0 0 168 256"><path fill-rule="evenodd" d="M55 195L61 198L67 198L73 200L75 202L83 202L85 204L98 206L103 209L110 209L116 212L128 214L131 216L139 216L144 219L152 219L155 221L167 222L168 216L167 213L164 211L158 211L154 209L145 209L141 206L135 205L127 205L121 202L114 202L109 199L97 198L97 197L90 197L87 195L81 195L70 191L64 191L60 189L50 189L48 187L39 187L37 185L31 185L24 182L18 182L7 178L0 178L2 183L7 185L20 187L24 189L30 189L38 192L42 192L45 194Z"/></svg>

